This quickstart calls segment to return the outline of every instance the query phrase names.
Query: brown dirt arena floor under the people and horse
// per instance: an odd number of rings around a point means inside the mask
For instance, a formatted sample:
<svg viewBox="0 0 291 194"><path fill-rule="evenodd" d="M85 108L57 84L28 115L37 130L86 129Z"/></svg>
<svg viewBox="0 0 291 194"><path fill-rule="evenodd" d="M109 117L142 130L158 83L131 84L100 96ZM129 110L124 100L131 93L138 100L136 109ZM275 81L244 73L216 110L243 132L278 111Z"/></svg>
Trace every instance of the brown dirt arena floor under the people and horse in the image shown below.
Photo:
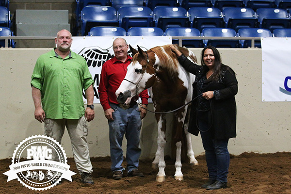
<svg viewBox="0 0 291 194"><path fill-rule="evenodd" d="M200 186L208 180L205 156L196 157L199 166L183 163L184 181L174 179L174 161L166 160L166 181L156 182L158 170L151 168L151 161L141 161L144 178L124 177L113 180L110 158L92 158L95 184L81 183L80 175L66 179L62 184L47 191L32 191L16 179L7 182L2 173L9 170L11 159L0 160L1 194L291 194L291 153L255 154L243 153L231 156L228 188L206 191ZM70 170L77 172L72 158L68 159Z"/></svg>

